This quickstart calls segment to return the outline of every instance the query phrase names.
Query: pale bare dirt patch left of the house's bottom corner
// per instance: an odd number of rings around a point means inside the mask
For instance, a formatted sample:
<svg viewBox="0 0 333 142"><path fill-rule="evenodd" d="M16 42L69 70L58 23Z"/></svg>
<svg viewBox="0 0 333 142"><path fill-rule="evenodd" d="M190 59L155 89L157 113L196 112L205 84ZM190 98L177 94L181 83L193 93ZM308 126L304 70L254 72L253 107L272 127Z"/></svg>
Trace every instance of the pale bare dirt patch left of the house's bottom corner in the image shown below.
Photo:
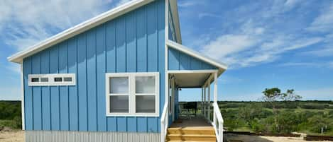
<svg viewBox="0 0 333 142"><path fill-rule="evenodd" d="M24 131L0 131L1 142L24 142Z"/></svg>

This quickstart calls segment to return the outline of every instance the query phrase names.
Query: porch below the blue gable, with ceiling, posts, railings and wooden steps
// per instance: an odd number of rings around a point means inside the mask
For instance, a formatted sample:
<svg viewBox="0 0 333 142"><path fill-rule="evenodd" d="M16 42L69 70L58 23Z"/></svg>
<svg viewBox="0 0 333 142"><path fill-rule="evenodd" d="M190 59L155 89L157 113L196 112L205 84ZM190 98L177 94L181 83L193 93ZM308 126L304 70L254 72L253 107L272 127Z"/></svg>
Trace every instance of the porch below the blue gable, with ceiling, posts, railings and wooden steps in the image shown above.
<svg viewBox="0 0 333 142"><path fill-rule="evenodd" d="M169 103L165 106L168 108L165 119L168 120L165 122L169 124L165 124L165 131L162 131L166 133L167 140L223 141L223 119L217 105L217 78L220 74L217 69L168 71ZM201 92L193 94L201 95L201 101L191 102L192 106L187 107L180 105L178 95L181 88L201 88ZM181 112L185 114L180 115Z"/></svg>

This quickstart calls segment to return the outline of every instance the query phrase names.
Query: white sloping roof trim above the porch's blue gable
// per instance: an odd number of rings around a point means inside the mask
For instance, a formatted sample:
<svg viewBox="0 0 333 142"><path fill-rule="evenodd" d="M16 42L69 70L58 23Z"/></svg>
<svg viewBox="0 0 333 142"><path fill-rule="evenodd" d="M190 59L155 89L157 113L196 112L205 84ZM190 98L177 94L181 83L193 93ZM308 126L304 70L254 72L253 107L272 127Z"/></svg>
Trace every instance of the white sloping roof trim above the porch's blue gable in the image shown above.
<svg viewBox="0 0 333 142"><path fill-rule="evenodd" d="M215 61L214 59L211 59L209 57L205 57L204 55L200 54L199 52L196 52L188 47L185 47L184 45L180 45L176 42L173 42L172 40L167 40L166 45L169 47L172 47L174 49L177 49L180 52L184 52L186 54L189 54L192 57L195 57L197 59L200 59L202 61L207 62L208 64L212 64L214 66L217 66L219 69L226 70L228 69L228 66L226 64L223 64L219 61Z"/></svg>

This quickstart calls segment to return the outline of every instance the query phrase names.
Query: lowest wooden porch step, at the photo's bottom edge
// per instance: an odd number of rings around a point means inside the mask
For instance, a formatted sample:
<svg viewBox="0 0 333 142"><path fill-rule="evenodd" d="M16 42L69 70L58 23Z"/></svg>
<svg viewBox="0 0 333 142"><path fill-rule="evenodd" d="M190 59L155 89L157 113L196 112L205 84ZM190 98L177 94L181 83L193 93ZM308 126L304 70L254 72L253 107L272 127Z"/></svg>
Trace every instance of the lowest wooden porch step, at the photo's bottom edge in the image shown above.
<svg viewBox="0 0 333 142"><path fill-rule="evenodd" d="M217 141L215 135L168 134L167 141Z"/></svg>

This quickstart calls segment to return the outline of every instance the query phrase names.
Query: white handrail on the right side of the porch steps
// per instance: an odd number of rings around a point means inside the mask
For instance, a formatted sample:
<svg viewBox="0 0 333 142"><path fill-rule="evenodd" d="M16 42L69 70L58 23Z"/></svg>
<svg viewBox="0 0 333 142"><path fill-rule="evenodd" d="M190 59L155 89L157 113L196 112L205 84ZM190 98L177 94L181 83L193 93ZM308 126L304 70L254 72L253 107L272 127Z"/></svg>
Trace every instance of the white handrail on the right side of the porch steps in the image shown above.
<svg viewBox="0 0 333 142"><path fill-rule="evenodd" d="M213 107L214 107L214 122L212 123L215 129L215 134L217 135L217 142L223 142L223 117L221 114L221 111L219 110L219 105L217 105L217 102L213 103ZM219 127L217 128L217 124L218 123Z"/></svg>

